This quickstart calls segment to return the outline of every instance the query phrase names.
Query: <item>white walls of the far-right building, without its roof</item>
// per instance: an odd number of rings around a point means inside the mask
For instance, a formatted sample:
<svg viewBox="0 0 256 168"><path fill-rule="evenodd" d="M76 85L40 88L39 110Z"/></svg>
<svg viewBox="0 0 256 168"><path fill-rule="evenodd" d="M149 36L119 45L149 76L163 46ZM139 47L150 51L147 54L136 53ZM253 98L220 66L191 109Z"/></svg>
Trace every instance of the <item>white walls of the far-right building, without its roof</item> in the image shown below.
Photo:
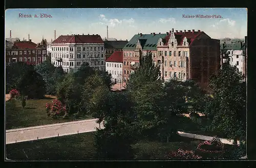
<svg viewBox="0 0 256 168"><path fill-rule="evenodd" d="M228 56L230 58L229 64L232 66L237 66L239 71L243 72L243 62L244 62L244 51L243 50L228 50Z"/></svg>

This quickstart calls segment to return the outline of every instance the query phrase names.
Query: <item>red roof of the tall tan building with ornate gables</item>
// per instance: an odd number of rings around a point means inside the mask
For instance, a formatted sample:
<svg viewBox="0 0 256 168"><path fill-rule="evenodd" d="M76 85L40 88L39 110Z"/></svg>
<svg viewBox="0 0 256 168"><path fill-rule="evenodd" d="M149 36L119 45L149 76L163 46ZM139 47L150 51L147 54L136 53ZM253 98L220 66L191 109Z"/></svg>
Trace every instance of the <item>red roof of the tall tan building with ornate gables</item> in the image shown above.
<svg viewBox="0 0 256 168"><path fill-rule="evenodd" d="M204 32L174 32L175 38L177 39L178 45L182 45L184 37L187 38L187 42L190 45L196 37L198 37L200 34ZM168 41L170 38L170 34L165 36L163 39L164 45L168 45Z"/></svg>

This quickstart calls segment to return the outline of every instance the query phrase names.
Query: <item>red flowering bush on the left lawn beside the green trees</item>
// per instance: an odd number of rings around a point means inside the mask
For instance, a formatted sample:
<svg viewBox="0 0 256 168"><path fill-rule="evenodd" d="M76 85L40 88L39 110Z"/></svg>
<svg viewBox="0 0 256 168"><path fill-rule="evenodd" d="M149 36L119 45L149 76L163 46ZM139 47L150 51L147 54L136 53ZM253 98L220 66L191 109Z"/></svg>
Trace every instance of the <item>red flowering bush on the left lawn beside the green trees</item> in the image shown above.
<svg viewBox="0 0 256 168"><path fill-rule="evenodd" d="M56 118L57 116L66 116L66 105L63 105L59 100L54 99L52 103L46 103L46 111L48 116Z"/></svg>

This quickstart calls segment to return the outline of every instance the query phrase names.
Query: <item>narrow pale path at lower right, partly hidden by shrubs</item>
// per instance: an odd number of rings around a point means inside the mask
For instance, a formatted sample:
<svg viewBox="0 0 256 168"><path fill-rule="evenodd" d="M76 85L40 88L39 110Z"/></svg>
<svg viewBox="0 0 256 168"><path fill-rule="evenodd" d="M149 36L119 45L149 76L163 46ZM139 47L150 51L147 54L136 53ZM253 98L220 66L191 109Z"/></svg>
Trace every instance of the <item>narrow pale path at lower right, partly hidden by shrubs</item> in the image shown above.
<svg viewBox="0 0 256 168"><path fill-rule="evenodd" d="M188 138L194 138L194 139L201 139L201 140L211 140L213 138L212 136L190 134L190 133L181 132L181 131L178 131L178 134L180 136L184 136L184 137L188 137ZM225 139L225 138L220 138L220 140L221 140L222 143L226 143L228 145L233 144L233 140L228 140L228 139ZM238 145L239 145L239 141L238 141Z"/></svg>

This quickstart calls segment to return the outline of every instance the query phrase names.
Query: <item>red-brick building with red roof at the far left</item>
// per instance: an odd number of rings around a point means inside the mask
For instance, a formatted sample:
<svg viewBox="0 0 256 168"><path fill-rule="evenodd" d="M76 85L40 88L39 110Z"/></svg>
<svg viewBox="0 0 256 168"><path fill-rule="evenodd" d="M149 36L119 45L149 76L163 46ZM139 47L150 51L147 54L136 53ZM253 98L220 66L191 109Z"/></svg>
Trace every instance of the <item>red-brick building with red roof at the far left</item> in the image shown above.
<svg viewBox="0 0 256 168"><path fill-rule="evenodd" d="M26 62L27 64L37 65L46 60L47 45L44 39L38 44L27 40L17 40L14 42L6 41L6 63Z"/></svg>

